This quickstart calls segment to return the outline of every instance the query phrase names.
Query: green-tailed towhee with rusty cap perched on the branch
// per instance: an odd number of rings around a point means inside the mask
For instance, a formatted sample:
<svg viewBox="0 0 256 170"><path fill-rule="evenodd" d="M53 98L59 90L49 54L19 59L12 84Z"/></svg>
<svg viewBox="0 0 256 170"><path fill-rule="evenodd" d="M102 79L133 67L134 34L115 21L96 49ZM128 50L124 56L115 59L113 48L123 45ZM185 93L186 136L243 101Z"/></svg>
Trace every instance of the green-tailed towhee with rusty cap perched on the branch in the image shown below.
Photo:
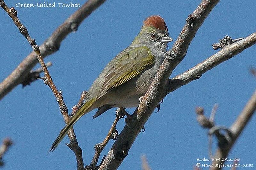
<svg viewBox="0 0 256 170"><path fill-rule="evenodd" d="M132 43L114 57L93 82L85 102L60 131L50 151L54 151L68 130L86 113L98 108L93 118L113 107L137 107L161 63L167 57L169 36L164 19L159 15L146 18ZM49 152L50 152L49 151Z"/></svg>

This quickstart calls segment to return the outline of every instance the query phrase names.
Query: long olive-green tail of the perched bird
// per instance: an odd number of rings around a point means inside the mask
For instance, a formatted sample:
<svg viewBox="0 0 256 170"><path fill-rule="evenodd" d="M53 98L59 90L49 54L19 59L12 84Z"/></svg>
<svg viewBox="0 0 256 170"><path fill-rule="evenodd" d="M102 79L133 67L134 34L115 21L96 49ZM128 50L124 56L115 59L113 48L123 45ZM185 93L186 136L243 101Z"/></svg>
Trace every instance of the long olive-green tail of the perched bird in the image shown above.
<svg viewBox="0 0 256 170"><path fill-rule="evenodd" d="M55 139L55 141L52 144L52 147L49 152L53 152L58 144L61 142L61 140L67 135L68 130L72 128L72 126L84 115L84 113L92 106L92 104L95 102L95 99L91 99L84 103L84 105L77 111L76 115L72 117L72 119L67 123L67 125L60 131L59 136Z"/></svg>

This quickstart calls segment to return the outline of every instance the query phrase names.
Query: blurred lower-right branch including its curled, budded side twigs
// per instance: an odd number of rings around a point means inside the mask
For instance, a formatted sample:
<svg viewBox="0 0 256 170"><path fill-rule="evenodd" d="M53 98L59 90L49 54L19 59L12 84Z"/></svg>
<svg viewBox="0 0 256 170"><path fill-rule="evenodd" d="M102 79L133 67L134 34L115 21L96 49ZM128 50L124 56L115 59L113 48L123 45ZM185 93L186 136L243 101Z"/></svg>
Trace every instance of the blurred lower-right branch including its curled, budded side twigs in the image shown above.
<svg viewBox="0 0 256 170"><path fill-rule="evenodd" d="M216 105L213 110L216 110ZM209 155L212 158L212 134L218 139L218 149L213 158L216 158L215 161L212 162L213 165L221 165L225 164L225 161L222 161L222 158L227 158L230 149L233 144L236 142L236 139L239 137L247 122L252 117L253 113L256 110L256 90L252 95L251 99L247 102L246 106L233 123L230 128L226 128L224 126L215 126L213 120L209 120L206 116L204 116L204 110L202 107L196 108L197 120L199 124L204 128L209 128ZM215 111L214 111L215 112ZM209 123L210 122L210 123ZM226 131L226 135L223 135L220 130ZM212 167L212 170L221 169L222 167Z"/></svg>

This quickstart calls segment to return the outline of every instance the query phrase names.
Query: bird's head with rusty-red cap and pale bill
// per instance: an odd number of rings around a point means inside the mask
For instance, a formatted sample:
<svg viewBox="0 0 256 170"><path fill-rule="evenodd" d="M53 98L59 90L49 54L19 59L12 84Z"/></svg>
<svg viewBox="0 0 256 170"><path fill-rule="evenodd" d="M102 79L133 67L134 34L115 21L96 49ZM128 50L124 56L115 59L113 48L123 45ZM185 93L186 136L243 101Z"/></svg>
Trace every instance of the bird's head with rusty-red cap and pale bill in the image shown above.
<svg viewBox="0 0 256 170"><path fill-rule="evenodd" d="M143 22L139 35L132 42L132 46L147 46L165 52L167 43L172 41L164 19L159 15L152 15Z"/></svg>

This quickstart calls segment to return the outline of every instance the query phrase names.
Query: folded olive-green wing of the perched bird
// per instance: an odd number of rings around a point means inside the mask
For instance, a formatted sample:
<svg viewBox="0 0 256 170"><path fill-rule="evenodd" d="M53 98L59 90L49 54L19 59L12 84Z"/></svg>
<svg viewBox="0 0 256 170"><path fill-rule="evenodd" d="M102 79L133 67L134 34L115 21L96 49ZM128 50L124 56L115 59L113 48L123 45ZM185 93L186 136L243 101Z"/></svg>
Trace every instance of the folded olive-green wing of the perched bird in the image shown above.
<svg viewBox="0 0 256 170"><path fill-rule="evenodd" d="M101 94L109 92L138 76L155 63L154 56L146 46L125 50L119 56L116 56L115 60L115 64L104 76L105 81L100 90Z"/></svg>

